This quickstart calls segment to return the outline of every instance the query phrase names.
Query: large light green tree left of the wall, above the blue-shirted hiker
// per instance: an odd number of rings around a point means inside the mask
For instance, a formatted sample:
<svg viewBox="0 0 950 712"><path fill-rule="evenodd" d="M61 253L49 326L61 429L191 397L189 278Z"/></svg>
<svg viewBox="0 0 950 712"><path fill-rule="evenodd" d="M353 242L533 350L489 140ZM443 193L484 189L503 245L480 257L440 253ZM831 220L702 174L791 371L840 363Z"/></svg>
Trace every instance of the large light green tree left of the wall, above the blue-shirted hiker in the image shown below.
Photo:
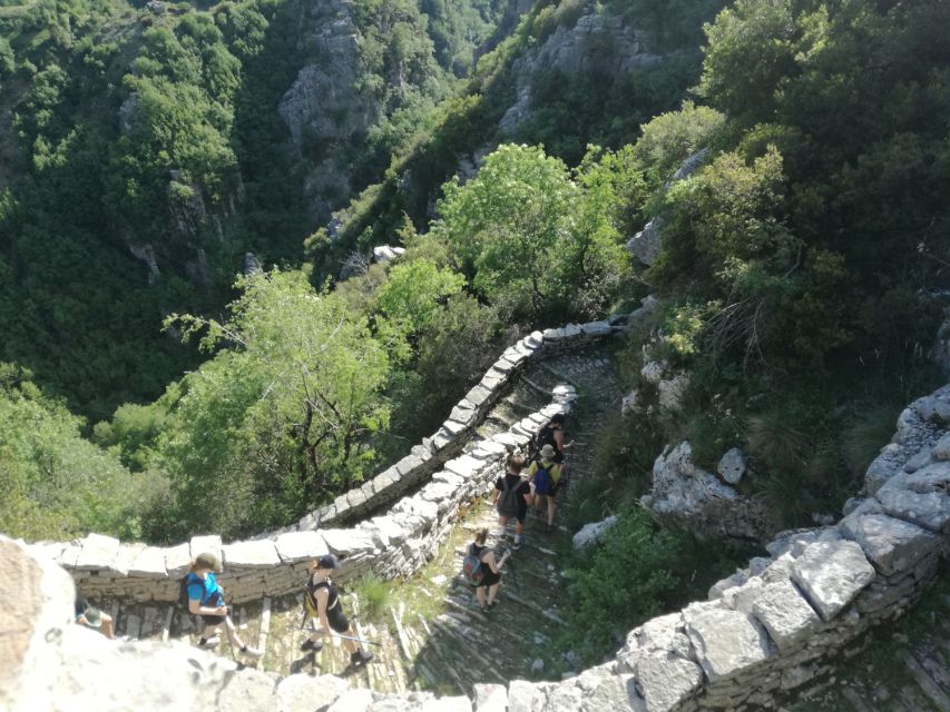
<svg viewBox="0 0 950 712"><path fill-rule="evenodd" d="M174 319L186 336L207 328L202 347L217 354L185 378L156 456L188 522L229 534L283 524L359 482L389 418L388 358L363 316L300 273L237 287L229 319Z"/></svg>

